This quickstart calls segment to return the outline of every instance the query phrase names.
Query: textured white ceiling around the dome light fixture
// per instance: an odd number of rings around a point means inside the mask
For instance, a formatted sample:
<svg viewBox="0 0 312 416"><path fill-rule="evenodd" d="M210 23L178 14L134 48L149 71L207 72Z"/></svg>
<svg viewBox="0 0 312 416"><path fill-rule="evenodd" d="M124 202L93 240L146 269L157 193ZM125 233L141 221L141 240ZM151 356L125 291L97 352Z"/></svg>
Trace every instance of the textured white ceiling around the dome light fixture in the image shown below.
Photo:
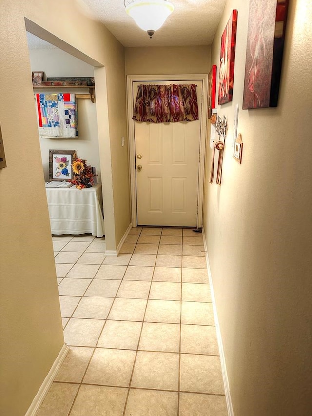
<svg viewBox="0 0 312 416"><path fill-rule="evenodd" d="M125 47L210 45L226 3L226 0L170 0L175 10L150 39L126 14L123 0L80 1L84 3L81 11L90 14L89 9ZM30 48L48 47L47 42L40 43L35 38L28 36Z"/></svg>

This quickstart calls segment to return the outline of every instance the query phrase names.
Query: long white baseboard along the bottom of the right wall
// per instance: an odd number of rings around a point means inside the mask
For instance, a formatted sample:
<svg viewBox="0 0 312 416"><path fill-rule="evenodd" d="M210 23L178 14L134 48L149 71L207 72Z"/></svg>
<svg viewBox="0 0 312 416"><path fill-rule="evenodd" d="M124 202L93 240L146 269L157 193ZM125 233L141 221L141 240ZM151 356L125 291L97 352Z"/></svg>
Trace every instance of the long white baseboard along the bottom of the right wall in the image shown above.
<svg viewBox="0 0 312 416"><path fill-rule="evenodd" d="M210 270L210 264L209 264L209 257L208 257L208 250L207 250L204 228L202 228L202 233L203 233L203 239L204 239L204 247L205 247L205 251L206 251L207 271L208 271L208 277L209 277L211 298L212 298L212 302L213 302L213 310L214 310L214 317L215 317L215 329L216 329L216 336L217 336L217 339L218 339L218 346L219 346L219 353L220 353L220 360L221 360L221 368L222 368L222 376L223 376L226 404L227 404L229 416L234 416L231 394L230 394L229 378L228 378L228 373L227 373L227 370L226 370L226 362L225 362L225 356L224 356L224 350L223 350L223 344L222 344L222 337L221 337L221 332L220 332L219 319L218 319L218 314L217 314L216 304L215 304L215 292L214 292L214 286L213 286L213 281L212 281L212 276L211 276L211 270Z"/></svg>

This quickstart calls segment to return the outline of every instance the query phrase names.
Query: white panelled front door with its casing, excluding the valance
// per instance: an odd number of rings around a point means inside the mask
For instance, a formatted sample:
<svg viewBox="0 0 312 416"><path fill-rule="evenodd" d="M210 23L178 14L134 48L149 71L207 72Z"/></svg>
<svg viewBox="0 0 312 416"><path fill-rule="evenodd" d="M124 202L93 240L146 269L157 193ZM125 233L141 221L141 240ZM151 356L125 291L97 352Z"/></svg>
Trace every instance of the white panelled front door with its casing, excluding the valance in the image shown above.
<svg viewBox="0 0 312 416"><path fill-rule="evenodd" d="M135 122L132 116L137 86L140 83L156 82L195 83L199 120L159 124ZM207 88L207 74L127 76L134 227L137 224L201 227ZM142 156L141 159L137 159L138 154ZM136 165L142 166L140 172L136 171Z"/></svg>

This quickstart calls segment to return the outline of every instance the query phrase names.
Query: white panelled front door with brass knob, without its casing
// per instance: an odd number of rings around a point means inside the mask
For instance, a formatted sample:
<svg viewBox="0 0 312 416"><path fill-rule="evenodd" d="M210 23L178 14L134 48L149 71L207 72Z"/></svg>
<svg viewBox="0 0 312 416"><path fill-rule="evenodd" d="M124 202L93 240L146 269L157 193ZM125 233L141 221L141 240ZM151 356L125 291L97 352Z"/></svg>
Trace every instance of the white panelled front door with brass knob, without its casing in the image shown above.
<svg viewBox="0 0 312 416"><path fill-rule="evenodd" d="M133 83L134 102L141 83ZM166 83L157 81L158 85ZM134 122L137 225L197 224L202 81L196 85L199 120Z"/></svg>

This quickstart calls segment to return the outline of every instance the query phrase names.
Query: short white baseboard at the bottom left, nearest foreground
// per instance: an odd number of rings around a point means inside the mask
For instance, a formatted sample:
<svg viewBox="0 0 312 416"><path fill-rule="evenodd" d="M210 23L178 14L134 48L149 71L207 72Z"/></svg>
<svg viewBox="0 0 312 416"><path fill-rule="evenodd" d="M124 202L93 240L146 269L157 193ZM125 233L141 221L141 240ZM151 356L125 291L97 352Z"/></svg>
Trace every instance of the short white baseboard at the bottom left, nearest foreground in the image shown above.
<svg viewBox="0 0 312 416"><path fill-rule="evenodd" d="M53 383L53 380L55 376L57 375L57 372L59 371L59 367L62 365L68 351L69 351L69 346L67 344L64 344L59 352L58 357L54 361L49 373L47 374L43 383L41 384L37 395L34 397L34 400L29 406L25 416L35 416L36 413L38 412L38 409L41 406L41 403L43 402L44 397L48 393Z"/></svg>

